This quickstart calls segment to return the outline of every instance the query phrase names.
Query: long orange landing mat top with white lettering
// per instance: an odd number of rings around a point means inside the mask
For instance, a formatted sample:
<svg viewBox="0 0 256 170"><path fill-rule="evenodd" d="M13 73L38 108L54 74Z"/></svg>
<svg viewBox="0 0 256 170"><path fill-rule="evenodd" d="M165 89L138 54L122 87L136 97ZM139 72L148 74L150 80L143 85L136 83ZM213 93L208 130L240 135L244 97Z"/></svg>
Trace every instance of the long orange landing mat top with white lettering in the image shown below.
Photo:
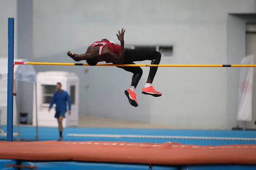
<svg viewBox="0 0 256 170"><path fill-rule="evenodd" d="M199 146L175 142L0 142L0 159L139 164L256 164L256 145Z"/></svg>

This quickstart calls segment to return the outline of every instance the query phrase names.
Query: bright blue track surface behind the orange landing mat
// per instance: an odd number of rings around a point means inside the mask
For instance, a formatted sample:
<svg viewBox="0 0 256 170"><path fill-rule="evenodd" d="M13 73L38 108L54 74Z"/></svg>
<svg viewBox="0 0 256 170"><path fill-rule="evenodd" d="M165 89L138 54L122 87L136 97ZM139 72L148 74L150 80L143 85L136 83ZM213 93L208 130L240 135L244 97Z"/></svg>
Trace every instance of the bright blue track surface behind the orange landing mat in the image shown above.
<svg viewBox="0 0 256 170"><path fill-rule="evenodd" d="M1 126L6 132L6 126ZM17 127L13 127L17 133ZM111 134L111 135L153 135L153 136L193 136L193 137L232 137L256 138L256 130L163 130L163 129L122 129L122 128L82 128L66 127L63 130L64 141L119 141L119 142L149 142L164 143L177 142L196 145L226 145L226 144L256 144L256 141L243 140L209 140L209 139L159 139L159 138L109 138L109 137L73 137L68 133L76 134ZM35 139L35 127L20 126L20 139ZM6 139L6 136L0 136ZM17 139L14 136L13 139ZM57 127L38 127L39 141L58 140Z"/></svg>

